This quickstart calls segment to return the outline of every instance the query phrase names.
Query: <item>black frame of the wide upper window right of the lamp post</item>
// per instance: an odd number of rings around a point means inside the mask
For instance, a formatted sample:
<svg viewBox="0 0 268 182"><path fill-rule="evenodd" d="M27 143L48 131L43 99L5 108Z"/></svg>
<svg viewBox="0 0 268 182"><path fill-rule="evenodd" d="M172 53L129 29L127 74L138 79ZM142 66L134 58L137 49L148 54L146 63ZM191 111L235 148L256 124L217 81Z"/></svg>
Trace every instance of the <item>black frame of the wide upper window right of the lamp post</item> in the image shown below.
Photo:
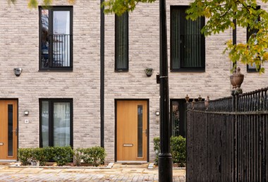
<svg viewBox="0 0 268 182"><path fill-rule="evenodd" d="M171 72L205 72L205 36L200 32L200 36L201 36L201 57L200 60L202 61L202 66L200 67L180 67L180 68L173 68L173 44L175 44L175 41L173 40L173 23L172 23L172 13L174 9L180 9L181 11L185 11L187 8L189 8L189 6L170 6L170 70ZM181 19L185 18L185 16L180 17L180 21ZM203 27L205 25L205 18L201 17L201 23L202 25L200 25L201 27ZM180 26L180 29L183 26ZM201 28L200 28L201 30ZM181 34L178 33L178 36L181 37ZM180 39L181 40L181 39ZM181 42L181 41L180 41ZM177 50L178 51L178 50ZM181 51L179 52L179 54L181 54ZM180 65L183 65L183 59L182 56L180 56Z"/></svg>

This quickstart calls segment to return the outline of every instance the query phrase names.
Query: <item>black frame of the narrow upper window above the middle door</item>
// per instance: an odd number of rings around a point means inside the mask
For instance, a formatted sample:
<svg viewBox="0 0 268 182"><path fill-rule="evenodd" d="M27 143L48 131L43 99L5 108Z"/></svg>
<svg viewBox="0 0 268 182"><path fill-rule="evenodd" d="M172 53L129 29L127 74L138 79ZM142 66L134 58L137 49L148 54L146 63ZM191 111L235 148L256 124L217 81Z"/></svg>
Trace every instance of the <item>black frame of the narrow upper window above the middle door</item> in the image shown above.
<svg viewBox="0 0 268 182"><path fill-rule="evenodd" d="M115 15L115 36L114 36L114 38L115 38L115 40L114 40L114 42L115 42L115 44L114 44L114 46L115 46L115 49L114 49L114 51L115 51L115 54L114 54L114 71L116 71L116 72L127 72L128 71L128 66L129 66L129 40L128 40L128 31L129 31L129 28L128 28L128 12L126 12L126 13L123 13L123 15L121 15L121 16L123 16L123 17L125 17L126 18L126 23L124 23L124 28L126 28L126 47L124 48L124 51L125 51L125 54L126 54L126 67L125 68L118 68L118 60L117 60L117 58L118 58L118 20L120 20L120 19L118 19L118 16L117 15Z"/></svg>

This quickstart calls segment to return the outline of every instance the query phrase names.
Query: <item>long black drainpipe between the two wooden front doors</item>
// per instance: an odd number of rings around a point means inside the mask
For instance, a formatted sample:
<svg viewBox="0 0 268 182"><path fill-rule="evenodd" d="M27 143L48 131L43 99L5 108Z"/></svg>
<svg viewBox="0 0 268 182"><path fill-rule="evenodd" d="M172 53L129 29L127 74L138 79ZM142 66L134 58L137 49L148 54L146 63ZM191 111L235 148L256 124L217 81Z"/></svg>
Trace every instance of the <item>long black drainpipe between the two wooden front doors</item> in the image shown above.
<svg viewBox="0 0 268 182"><path fill-rule="evenodd" d="M100 0L102 4L104 0ZM100 9L100 115L101 115L101 147L104 147L104 7Z"/></svg>

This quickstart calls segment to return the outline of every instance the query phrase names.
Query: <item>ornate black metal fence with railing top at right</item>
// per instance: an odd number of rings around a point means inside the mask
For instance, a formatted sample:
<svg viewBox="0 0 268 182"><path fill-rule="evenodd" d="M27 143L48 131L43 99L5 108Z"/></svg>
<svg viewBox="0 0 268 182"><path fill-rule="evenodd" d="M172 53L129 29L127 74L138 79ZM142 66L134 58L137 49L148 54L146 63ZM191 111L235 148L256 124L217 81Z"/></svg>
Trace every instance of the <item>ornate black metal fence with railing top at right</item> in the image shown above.
<svg viewBox="0 0 268 182"><path fill-rule="evenodd" d="M188 104L187 181L267 181L268 87Z"/></svg>

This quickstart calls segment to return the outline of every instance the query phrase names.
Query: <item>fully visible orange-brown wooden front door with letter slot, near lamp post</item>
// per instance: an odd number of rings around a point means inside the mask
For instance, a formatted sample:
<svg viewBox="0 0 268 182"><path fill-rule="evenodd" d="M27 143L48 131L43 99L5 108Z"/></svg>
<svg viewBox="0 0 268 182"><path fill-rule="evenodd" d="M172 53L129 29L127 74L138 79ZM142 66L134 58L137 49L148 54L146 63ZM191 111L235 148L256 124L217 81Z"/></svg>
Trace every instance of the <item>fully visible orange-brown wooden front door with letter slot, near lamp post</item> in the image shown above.
<svg viewBox="0 0 268 182"><path fill-rule="evenodd" d="M147 101L116 102L117 161L147 161Z"/></svg>

